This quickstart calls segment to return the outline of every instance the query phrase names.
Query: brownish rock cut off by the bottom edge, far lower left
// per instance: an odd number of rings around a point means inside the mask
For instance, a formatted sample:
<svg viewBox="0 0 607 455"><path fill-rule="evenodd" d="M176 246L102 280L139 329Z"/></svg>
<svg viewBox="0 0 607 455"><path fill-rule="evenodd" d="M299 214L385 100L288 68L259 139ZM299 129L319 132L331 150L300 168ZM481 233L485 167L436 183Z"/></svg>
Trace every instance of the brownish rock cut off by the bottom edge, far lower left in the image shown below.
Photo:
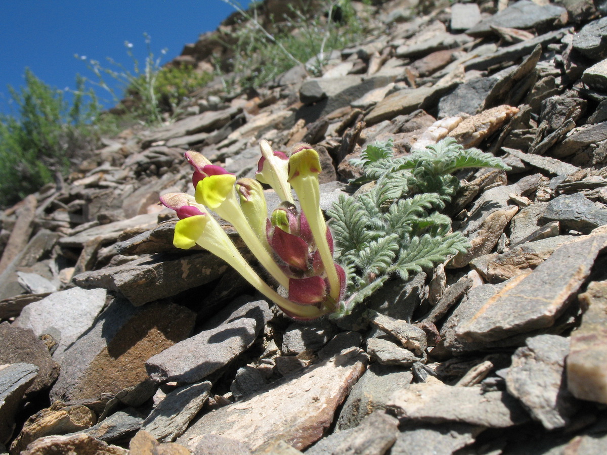
<svg viewBox="0 0 607 455"><path fill-rule="evenodd" d="M90 434L45 436L36 439L21 455L129 455L129 451L95 439Z"/></svg>

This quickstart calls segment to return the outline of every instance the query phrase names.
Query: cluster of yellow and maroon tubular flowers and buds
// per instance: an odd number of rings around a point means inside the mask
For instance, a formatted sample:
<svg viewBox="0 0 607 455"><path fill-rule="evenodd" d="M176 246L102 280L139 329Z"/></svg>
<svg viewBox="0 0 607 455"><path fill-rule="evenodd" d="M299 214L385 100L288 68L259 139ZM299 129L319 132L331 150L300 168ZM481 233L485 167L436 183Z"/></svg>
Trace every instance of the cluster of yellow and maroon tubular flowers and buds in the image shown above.
<svg viewBox="0 0 607 455"><path fill-rule="evenodd" d="M313 319L334 312L344 294L345 273L333 261L333 238L320 211L318 153L308 144L294 146L290 157L273 151L267 141L261 141L260 148L257 180L237 180L202 154L186 152L194 168L194 196L169 193L160 197L179 218L173 243L183 249L198 244L222 258L293 318ZM259 182L273 187L283 201L270 219ZM209 209L234 226L263 268L286 289L288 298L259 277Z"/></svg>

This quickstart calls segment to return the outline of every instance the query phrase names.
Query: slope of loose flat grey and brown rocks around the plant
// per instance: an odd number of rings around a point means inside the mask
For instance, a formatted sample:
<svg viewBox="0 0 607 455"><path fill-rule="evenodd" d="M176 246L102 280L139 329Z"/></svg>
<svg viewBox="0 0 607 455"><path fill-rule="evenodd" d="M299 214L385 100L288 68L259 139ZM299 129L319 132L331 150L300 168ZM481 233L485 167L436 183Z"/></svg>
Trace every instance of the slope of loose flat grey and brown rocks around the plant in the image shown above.
<svg viewBox="0 0 607 455"><path fill-rule="evenodd" d="M322 77L295 67L229 94L217 79L182 118L107 140L4 211L8 453L604 453L605 5L415 7L375 7L381 27ZM177 60L208 64L211 38ZM251 177L260 140L308 142L327 209L367 144L404 156L444 136L512 167L458 176L470 251L337 322L293 322L178 251L157 205L189 189L186 149Z"/></svg>

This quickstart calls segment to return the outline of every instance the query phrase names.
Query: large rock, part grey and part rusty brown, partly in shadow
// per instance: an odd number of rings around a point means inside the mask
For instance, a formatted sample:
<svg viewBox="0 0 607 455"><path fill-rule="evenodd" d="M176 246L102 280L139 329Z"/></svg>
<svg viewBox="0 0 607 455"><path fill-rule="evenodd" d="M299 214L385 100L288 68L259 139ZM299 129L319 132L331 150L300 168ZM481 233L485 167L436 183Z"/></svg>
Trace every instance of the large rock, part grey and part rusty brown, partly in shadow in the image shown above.
<svg viewBox="0 0 607 455"><path fill-rule="evenodd" d="M195 314L172 303L134 308L114 300L93 328L67 349L52 400L102 399L148 379L145 362L187 337ZM153 392L152 392L153 393Z"/></svg>

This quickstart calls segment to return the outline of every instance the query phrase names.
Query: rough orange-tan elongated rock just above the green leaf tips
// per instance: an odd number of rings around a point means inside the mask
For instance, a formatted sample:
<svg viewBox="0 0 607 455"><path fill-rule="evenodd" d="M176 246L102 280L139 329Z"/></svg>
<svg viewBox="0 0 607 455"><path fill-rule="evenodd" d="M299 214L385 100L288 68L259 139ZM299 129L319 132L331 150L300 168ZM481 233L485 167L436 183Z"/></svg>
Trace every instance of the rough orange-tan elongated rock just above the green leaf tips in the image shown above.
<svg viewBox="0 0 607 455"><path fill-rule="evenodd" d="M450 136L464 147L475 147L484 138L500 129L515 113L518 113L518 107L507 106L506 104L483 110L483 112L462 121L450 132Z"/></svg>

